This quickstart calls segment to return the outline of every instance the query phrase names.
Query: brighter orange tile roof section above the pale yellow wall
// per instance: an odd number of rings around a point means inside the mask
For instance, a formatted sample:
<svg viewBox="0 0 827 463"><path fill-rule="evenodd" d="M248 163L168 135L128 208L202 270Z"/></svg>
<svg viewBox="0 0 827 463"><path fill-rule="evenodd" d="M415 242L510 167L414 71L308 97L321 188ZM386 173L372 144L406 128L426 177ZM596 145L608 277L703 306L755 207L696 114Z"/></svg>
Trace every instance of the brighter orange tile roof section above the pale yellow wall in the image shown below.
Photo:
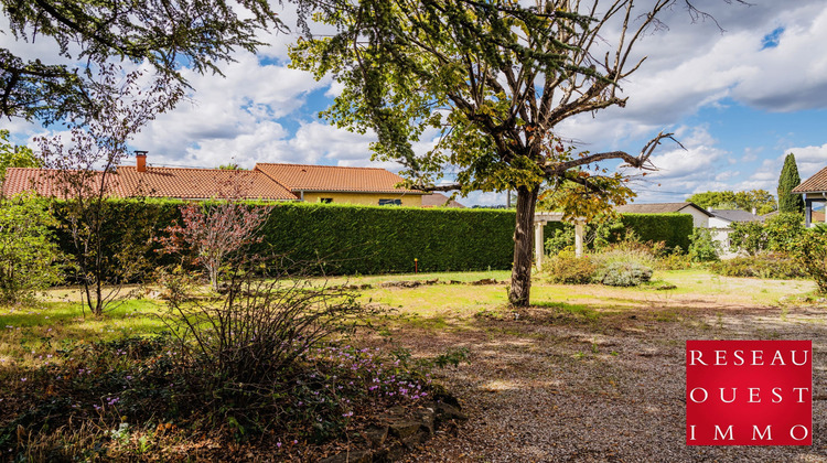
<svg viewBox="0 0 827 463"><path fill-rule="evenodd" d="M397 189L395 185L405 179L385 169L258 163L256 170L292 192L426 194L418 190Z"/></svg>

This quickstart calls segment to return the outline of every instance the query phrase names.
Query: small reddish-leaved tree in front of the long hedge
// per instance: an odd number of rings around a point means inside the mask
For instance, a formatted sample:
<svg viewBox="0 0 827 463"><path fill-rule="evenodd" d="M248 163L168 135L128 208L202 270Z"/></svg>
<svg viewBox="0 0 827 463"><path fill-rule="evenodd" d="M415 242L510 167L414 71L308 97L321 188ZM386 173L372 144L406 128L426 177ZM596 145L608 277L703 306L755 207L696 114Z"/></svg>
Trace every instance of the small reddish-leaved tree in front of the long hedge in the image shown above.
<svg viewBox="0 0 827 463"><path fill-rule="evenodd" d="M163 251L194 255L193 263L202 266L210 277L213 290L218 290L218 277L228 260L241 258L238 251L258 243L256 236L267 220L269 207L251 206L234 200L215 204L187 204L181 206L183 225L167 228L168 237L158 240Z"/></svg>

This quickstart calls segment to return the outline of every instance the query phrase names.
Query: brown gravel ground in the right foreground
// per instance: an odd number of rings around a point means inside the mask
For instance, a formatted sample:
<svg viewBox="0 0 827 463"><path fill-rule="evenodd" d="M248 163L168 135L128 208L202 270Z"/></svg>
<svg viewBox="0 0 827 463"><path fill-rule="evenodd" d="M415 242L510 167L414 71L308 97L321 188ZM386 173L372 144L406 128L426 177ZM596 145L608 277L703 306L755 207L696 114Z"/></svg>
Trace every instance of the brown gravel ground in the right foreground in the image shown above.
<svg viewBox="0 0 827 463"><path fill-rule="evenodd" d="M536 309L461 330L400 330L416 354L449 346L469 364L439 373L469 421L410 462L827 462L827 310ZM812 446L687 446L686 340L812 340Z"/></svg>

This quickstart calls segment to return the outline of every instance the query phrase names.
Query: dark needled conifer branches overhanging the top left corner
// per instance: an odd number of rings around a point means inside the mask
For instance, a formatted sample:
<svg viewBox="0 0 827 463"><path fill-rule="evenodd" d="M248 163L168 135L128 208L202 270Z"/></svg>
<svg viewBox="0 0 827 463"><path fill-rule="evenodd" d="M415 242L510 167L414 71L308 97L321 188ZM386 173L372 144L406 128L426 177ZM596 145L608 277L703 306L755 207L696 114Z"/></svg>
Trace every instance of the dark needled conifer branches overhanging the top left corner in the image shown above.
<svg viewBox="0 0 827 463"><path fill-rule="evenodd" d="M0 0L17 40L54 39L55 52L79 67L26 60L0 47L0 116L51 123L99 110L93 93L99 64L149 63L184 79L178 68L221 74L236 49L255 51L256 34L281 22L267 0Z"/></svg>

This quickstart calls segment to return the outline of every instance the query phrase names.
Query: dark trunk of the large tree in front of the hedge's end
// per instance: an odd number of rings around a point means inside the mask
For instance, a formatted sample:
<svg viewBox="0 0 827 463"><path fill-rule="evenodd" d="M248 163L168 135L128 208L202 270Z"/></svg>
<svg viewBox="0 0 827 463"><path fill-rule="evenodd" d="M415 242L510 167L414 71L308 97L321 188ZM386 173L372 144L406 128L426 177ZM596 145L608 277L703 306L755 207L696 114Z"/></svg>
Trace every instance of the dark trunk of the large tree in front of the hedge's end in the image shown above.
<svg viewBox="0 0 827 463"><path fill-rule="evenodd" d="M527 306L531 292L531 250L534 244L534 209L539 185L517 189L517 226L514 228L514 268L508 302Z"/></svg>

